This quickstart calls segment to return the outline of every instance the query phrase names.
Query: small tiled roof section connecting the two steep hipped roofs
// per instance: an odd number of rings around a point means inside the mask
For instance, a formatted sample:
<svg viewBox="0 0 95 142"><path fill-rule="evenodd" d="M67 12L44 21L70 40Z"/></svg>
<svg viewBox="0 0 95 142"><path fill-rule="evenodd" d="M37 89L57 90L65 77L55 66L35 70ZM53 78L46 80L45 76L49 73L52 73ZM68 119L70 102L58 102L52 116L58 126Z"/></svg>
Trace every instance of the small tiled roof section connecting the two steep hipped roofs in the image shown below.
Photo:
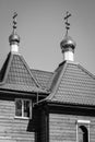
<svg viewBox="0 0 95 142"><path fill-rule="evenodd" d="M48 71L40 70L31 70L32 74L36 78L38 84L41 85L43 88L49 90L51 85L51 79L54 73Z"/></svg>

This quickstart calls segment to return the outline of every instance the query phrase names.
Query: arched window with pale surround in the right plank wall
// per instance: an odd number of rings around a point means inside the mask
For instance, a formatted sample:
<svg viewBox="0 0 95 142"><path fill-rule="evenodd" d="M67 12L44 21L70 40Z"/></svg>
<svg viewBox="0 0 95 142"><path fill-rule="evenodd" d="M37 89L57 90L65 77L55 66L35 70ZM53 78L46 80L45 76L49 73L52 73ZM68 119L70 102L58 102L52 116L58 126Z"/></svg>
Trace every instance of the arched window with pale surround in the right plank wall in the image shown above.
<svg viewBox="0 0 95 142"><path fill-rule="evenodd" d="M90 142L90 121L78 120L76 122L76 142Z"/></svg>

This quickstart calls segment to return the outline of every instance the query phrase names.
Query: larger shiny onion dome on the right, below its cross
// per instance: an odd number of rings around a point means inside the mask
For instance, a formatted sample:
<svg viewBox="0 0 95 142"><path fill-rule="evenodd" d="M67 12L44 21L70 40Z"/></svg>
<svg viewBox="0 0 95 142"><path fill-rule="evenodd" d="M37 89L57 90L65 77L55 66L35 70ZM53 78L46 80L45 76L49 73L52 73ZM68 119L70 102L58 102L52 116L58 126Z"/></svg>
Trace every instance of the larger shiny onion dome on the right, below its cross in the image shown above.
<svg viewBox="0 0 95 142"><path fill-rule="evenodd" d="M69 51L69 50L74 52L75 46L76 46L75 42L69 35L66 35L63 40L60 43L60 47L62 49L62 52Z"/></svg>

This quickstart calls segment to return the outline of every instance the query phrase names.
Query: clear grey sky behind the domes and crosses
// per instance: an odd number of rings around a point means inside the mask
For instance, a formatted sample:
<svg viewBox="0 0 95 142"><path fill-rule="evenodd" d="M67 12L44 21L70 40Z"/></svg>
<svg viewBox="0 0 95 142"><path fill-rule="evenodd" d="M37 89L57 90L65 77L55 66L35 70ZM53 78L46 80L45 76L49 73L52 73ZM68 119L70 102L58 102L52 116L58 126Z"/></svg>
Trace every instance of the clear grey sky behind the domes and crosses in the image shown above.
<svg viewBox="0 0 95 142"><path fill-rule="evenodd" d="M95 74L95 0L0 0L0 67L9 51L12 16L17 12L20 54L31 69L55 71L63 61L60 42L69 11L74 61Z"/></svg>

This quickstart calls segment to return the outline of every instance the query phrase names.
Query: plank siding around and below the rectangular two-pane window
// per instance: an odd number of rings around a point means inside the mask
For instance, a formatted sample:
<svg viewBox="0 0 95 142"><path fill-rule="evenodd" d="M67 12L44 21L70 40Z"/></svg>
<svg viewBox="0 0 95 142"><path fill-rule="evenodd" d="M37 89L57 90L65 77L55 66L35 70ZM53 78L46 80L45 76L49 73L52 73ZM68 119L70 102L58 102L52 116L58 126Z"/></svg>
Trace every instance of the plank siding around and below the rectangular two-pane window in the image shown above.
<svg viewBox="0 0 95 142"><path fill-rule="evenodd" d="M28 119L16 119L14 99L0 99L0 142L35 142Z"/></svg>

